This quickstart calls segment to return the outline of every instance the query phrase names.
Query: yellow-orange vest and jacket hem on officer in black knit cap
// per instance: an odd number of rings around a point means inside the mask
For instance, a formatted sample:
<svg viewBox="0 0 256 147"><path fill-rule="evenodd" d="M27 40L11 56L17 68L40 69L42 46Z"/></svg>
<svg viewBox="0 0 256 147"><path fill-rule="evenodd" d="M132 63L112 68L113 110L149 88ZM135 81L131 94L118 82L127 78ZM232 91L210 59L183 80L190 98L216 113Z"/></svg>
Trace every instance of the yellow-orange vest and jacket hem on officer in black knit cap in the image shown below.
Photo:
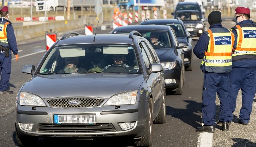
<svg viewBox="0 0 256 147"><path fill-rule="evenodd" d="M212 28L206 32L208 32L207 35L210 40L201 64L205 66L205 70L208 72L230 72L234 34L226 28Z"/></svg>

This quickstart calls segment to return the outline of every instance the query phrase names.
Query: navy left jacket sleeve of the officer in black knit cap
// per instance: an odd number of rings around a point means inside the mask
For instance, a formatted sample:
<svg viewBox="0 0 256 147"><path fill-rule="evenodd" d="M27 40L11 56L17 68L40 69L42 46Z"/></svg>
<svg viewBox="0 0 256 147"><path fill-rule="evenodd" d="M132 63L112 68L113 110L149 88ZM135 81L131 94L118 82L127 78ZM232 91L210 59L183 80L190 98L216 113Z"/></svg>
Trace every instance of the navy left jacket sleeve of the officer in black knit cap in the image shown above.
<svg viewBox="0 0 256 147"><path fill-rule="evenodd" d="M205 51L208 48L209 40L210 40L209 36L206 35L205 33L203 33L200 36L199 40L197 41L197 43L193 49L193 52L197 58L203 59Z"/></svg>

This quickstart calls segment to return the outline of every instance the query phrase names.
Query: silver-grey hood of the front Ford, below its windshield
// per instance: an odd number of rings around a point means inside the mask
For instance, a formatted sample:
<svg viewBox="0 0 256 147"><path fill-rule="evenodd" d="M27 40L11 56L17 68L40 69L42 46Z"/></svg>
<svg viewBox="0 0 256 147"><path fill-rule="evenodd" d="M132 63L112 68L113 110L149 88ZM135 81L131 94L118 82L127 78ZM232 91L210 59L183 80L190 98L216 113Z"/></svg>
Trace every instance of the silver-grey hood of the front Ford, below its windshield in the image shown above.
<svg viewBox="0 0 256 147"><path fill-rule="evenodd" d="M101 97L138 90L144 78L142 74L58 74L34 76L21 91L41 98Z"/></svg>

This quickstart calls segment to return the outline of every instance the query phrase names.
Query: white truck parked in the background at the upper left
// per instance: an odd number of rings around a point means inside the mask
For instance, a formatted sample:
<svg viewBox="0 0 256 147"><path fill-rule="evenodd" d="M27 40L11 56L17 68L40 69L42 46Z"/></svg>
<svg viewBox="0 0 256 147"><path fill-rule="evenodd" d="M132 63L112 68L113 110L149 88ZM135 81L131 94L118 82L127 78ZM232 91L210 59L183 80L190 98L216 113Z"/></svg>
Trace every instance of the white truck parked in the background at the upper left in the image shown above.
<svg viewBox="0 0 256 147"><path fill-rule="evenodd" d="M89 8L94 9L97 5L97 0L69 0L70 9L84 9L88 10ZM56 10L66 10L68 0L36 0L35 7L36 11L56 11Z"/></svg>

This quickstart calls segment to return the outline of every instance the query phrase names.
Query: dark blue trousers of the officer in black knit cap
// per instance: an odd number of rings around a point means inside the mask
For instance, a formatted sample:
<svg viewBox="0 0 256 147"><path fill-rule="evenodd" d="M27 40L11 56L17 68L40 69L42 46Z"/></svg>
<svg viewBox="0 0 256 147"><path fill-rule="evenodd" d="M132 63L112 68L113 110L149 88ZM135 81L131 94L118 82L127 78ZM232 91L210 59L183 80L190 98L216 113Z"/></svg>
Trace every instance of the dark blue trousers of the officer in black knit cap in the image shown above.
<svg viewBox="0 0 256 147"><path fill-rule="evenodd" d="M216 93L220 100L220 121L231 120L229 73L204 73L202 118L204 125L215 125Z"/></svg>

